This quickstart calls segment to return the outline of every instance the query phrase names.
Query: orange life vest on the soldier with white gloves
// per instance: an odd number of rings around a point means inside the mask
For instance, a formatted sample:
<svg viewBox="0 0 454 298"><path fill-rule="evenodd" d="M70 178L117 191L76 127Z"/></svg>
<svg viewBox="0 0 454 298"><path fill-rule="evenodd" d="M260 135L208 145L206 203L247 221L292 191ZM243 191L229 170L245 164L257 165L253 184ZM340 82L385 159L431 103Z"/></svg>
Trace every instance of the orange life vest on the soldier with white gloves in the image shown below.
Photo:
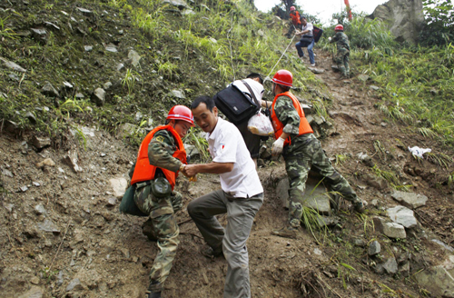
<svg viewBox="0 0 454 298"><path fill-rule="evenodd" d="M298 112L300 115L300 131L298 135L301 134L311 134L313 133L311 125L308 122L308 119L306 119L306 116L304 115L304 111L302 110L300 101L298 98L295 97L295 95L291 94L289 91L286 91L281 94L277 94L274 97L274 100L272 101L271 104L271 120L272 120L272 126L274 127L274 138L277 140L278 137L281 136L284 128L284 124L281 123L281 121L278 119L276 113L274 112L274 104L276 104L276 100L278 99L279 96L288 96L291 98L291 101L293 102L293 106L295 107L295 110ZM290 136L285 140L284 146L291 144L291 139Z"/></svg>

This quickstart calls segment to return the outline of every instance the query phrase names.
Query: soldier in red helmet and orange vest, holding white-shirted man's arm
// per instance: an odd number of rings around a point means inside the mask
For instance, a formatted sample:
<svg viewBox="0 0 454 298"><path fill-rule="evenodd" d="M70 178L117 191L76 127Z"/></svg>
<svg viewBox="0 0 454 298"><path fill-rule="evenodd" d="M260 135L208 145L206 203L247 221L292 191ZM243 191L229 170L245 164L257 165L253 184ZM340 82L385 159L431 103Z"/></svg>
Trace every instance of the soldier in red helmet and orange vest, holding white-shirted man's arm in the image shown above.
<svg viewBox="0 0 454 298"><path fill-rule="evenodd" d="M159 247L150 272L148 298L161 297L179 243L174 214L182 209L183 196L173 188L178 173L187 164L182 138L193 125L188 107L173 106L165 125L154 128L143 139L133 169L134 203L143 214L150 215L143 224L143 233Z"/></svg>

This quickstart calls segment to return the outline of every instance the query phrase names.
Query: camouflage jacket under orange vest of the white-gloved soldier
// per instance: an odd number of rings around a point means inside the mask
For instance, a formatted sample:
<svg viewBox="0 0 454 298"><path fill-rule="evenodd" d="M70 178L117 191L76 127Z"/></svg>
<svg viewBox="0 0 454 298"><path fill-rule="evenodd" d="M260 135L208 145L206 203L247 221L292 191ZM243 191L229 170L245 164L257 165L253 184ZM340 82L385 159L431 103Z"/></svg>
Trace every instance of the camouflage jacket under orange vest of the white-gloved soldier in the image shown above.
<svg viewBox="0 0 454 298"><path fill-rule="evenodd" d="M298 135L300 132L300 115L289 96L279 96L277 98L274 105L274 113L284 125L283 132L290 134L291 144L285 146L282 153L285 157L285 154L292 154L293 151L297 150L301 142L305 143L305 140L312 134Z"/></svg>

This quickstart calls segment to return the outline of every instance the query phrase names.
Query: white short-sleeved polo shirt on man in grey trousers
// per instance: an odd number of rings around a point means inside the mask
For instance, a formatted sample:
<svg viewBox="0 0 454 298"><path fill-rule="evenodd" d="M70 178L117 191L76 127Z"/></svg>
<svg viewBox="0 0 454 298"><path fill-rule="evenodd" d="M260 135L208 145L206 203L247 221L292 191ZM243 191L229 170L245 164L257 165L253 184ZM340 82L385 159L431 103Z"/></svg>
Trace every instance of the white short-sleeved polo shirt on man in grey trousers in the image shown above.
<svg viewBox="0 0 454 298"><path fill-rule="evenodd" d="M263 193L251 154L235 125L218 117L216 127L206 139L213 162L233 163L232 172L219 175L225 193L239 198Z"/></svg>

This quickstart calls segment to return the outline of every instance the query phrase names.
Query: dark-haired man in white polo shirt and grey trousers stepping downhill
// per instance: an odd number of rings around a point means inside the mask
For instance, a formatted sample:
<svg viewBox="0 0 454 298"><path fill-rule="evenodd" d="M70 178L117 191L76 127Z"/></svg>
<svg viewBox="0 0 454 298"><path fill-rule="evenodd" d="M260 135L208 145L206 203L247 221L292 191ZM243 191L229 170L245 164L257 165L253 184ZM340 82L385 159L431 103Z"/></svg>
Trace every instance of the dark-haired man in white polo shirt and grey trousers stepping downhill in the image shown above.
<svg viewBox="0 0 454 298"><path fill-rule="evenodd" d="M199 228L212 256L223 253L228 263L224 298L249 298L249 257L246 241L253 218L263 203L263 188L242 134L235 125L218 117L218 109L209 96L201 96L191 105L194 121L207 135L212 163L188 164L184 174L219 174L221 190L205 194L188 204L188 213ZM227 213L225 229L217 214Z"/></svg>

